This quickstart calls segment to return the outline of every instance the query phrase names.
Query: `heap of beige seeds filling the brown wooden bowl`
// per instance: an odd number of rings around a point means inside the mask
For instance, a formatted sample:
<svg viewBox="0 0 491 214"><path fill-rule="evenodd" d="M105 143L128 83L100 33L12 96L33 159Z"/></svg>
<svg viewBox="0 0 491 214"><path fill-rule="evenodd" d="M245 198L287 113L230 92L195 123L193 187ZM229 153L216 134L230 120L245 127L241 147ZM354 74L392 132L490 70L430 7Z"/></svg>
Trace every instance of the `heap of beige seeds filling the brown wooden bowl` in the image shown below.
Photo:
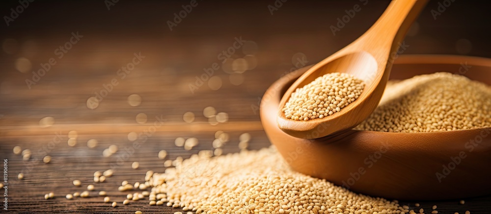
<svg viewBox="0 0 491 214"><path fill-rule="evenodd" d="M439 132L491 126L491 87L439 72L387 85L377 109L356 129Z"/></svg>

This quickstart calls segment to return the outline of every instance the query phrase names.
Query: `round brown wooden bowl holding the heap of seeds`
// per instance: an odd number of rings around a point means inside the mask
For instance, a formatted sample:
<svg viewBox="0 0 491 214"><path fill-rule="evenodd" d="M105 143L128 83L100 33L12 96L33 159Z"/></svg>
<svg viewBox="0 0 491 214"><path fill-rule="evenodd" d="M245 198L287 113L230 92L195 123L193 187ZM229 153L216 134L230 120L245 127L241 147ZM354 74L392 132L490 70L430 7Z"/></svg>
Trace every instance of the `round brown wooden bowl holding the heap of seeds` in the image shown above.
<svg viewBox="0 0 491 214"><path fill-rule="evenodd" d="M309 67L274 82L261 100L266 134L293 169L355 192L394 199L460 199L491 192L490 127L434 133L347 130L317 139L281 131L276 124L280 99ZM390 79L438 71L491 84L491 59L468 56L400 56Z"/></svg>

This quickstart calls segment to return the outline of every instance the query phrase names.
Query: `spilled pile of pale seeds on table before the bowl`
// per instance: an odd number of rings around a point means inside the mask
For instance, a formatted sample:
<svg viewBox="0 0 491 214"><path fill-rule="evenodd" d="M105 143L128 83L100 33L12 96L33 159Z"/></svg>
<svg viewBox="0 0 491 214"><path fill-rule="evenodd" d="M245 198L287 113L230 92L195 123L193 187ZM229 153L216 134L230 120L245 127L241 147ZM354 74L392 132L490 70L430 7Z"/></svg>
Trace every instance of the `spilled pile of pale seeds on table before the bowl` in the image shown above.
<svg viewBox="0 0 491 214"><path fill-rule="evenodd" d="M291 170L276 149L192 155L149 178L167 206L199 213L409 213L396 202L356 194Z"/></svg>

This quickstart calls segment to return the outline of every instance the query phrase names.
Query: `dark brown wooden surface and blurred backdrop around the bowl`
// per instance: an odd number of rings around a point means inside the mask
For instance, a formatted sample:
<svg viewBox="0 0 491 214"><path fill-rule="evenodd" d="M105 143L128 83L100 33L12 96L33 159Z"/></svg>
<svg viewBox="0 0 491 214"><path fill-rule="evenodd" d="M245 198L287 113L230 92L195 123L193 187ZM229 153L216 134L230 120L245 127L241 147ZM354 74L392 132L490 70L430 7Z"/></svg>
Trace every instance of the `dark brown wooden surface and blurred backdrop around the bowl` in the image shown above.
<svg viewBox="0 0 491 214"><path fill-rule="evenodd" d="M224 152L237 152L238 137L244 132L252 135L250 149L270 143L262 130L257 107L268 86L285 72L295 68L299 58L312 64L348 45L367 30L380 16L389 1L300 1L289 0L270 14L265 1L200 1L172 31L166 22L181 5L190 1L125 1L108 10L104 0L98 1L33 1L13 22L0 24L2 45L7 39L15 43L2 46L0 53L0 157L8 159L8 210L14 213L173 213L178 210L165 206L149 206L147 200L122 205L128 192L117 191L123 180L142 181L146 170L163 172L163 160L157 158L161 149L169 152L167 159L189 157L201 149L212 148L214 133L230 133L231 141ZM432 16L440 1L431 1L405 40L409 45L403 54L463 54L491 57L489 51L491 27L489 3L456 0L441 15ZM441 1L443 2L443 1ZM333 35L330 25L346 14L345 10L361 4L341 31ZM10 16L18 1L2 1L0 15ZM68 42L72 32L82 39L70 49L39 82L27 87L31 71L41 68L54 51ZM235 38L248 42L237 49L231 58L244 57L243 50L252 51L257 67L242 74L241 85L231 84L230 74L221 68L214 76L222 80L217 91L207 82L191 93L189 84L213 63L221 65L218 54L233 46ZM7 40L12 41L12 40ZM257 51L253 45L257 45ZM5 47L6 50L5 51ZM9 53L7 53L9 52ZM125 79L117 70L130 63L134 53L145 58ZM24 57L31 63L27 72L16 69L16 61ZM293 61L293 62L292 62ZM96 109L89 109L86 100L103 89L103 84L118 78L119 84ZM140 95L139 106L130 106L127 97ZM227 123L213 126L203 116L203 108L214 106L229 115ZM196 119L185 123L182 116L191 111ZM138 124L136 114L145 113L148 122ZM55 123L41 127L40 119L53 117ZM131 146L129 132L140 133L150 128L155 117L165 119L135 153L115 169L114 176L96 190L108 191L117 208L103 203L103 197L91 192L90 198L66 200L67 193L83 191L92 184L96 170L106 170ZM75 147L67 145L68 131L79 133ZM42 163L42 150L61 133L62 141L49 149L53 157ZM191 151L174 146L176 137L196 137L199 146ZM95 148L88 148L88 139L97 139ZM429 142L431 143L431 142ZM115 155L104 158L102 152L110 144L119 146ZM30 149L30 161L14 155L12 148L20 145ZM36 161L37 160L37 161ZM132 169L138 161L140 168ZM25 179L17 180L23 171ZM417 175L414 175L417 176ZM74 187L79 179L83 186ZM465 185L465 184L462 184ZM55 192L55 199L45 200L44 194ZM425 213L437 205L438 213L489 213L491 197L450 201L401 201L414 208L422 205ZM3 208L3 207L2 207Z"/></svg>

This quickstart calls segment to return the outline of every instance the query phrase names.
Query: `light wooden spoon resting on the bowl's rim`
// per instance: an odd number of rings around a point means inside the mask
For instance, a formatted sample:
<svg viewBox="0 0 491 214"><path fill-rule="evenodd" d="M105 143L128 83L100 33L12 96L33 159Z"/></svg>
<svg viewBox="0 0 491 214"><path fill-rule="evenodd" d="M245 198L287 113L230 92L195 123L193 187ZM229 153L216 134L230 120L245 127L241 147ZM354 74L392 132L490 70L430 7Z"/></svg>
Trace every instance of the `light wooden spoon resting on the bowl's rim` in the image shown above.
<svg viewBox="0 0 491 214"><path fill-rule="evenodd" d="M281 99L277 125L285 133L314 139L348 130L366 119L377 107L400 42L427 0L392 0L380 19L355 42L306 71ZM323 119L287 119L282 109L297 88L331 72L344 72L362 79L365 88L348 106Z"/></svg>

